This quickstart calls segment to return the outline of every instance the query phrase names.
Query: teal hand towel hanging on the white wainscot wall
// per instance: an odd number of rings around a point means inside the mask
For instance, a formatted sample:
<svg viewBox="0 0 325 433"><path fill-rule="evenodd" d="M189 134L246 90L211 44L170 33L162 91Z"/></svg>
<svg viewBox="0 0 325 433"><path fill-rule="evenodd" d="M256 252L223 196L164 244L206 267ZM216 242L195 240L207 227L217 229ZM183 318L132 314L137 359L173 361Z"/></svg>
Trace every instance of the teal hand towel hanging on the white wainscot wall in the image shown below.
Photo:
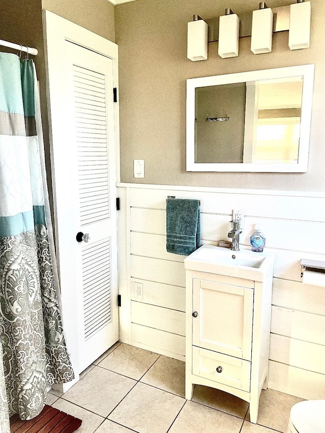
<svg viewBox="0 0 325 433"><path fill-rule="evenodd" d="M166 228L169 253L188 255L198 249L201 235L199 200L168 198Z"/></svg>

